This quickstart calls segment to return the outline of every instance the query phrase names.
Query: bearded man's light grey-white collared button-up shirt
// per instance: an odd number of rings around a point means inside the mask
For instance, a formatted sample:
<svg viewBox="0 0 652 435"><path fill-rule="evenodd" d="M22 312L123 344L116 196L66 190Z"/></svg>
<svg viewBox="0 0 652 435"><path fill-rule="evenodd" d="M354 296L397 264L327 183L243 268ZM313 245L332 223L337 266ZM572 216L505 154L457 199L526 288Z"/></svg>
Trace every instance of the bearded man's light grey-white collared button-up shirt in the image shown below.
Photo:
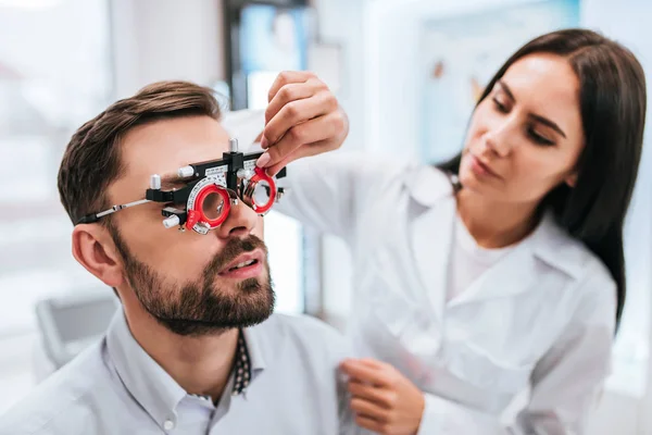
<svg viewBox="0 0 652 435"><path fill-rule="evenodd" d="M215 406L189 395L134 339L118 310L99 344L0 417L0 435L352 433L342 337L308 316L274 314L243 330L251 380Z"/></svg>

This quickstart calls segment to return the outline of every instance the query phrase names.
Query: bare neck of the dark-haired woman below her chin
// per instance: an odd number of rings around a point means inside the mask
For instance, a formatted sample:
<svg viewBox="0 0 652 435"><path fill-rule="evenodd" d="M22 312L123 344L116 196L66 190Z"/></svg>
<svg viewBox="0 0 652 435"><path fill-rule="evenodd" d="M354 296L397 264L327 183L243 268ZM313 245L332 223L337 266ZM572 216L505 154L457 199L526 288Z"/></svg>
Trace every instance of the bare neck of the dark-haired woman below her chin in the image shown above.
<svg viewBox="0 0 652 435"><path fill-rule="evenodd" d="M523 240L540 217L537 203L491 201L464 188L456 199L460 219L484 248L503 248Z"/></svg>

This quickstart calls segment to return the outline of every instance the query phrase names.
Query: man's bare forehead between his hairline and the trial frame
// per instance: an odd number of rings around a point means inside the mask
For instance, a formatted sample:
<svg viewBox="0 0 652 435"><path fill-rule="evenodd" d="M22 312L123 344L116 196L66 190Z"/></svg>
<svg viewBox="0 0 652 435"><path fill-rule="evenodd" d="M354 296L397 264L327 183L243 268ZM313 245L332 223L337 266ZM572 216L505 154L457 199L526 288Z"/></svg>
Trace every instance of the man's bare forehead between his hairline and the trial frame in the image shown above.
<svg viewBox="0 0 652 435"><path fill-rule="evenodd" d="M228 134L209 116L158 121L130 130L122 142L125 172L115 190L142 190L152 174L175 174L190 163L221 159Z"/></svg>

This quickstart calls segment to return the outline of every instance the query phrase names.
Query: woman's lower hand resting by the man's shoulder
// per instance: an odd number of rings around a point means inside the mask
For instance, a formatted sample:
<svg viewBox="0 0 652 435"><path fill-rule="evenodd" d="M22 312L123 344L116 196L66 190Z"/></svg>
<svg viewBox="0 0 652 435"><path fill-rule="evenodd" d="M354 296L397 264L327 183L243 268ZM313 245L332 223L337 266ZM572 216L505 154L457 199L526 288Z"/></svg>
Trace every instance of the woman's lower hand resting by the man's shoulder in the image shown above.
<svg viewBox="0 0 652 435"><path fill-rule="evenodd" d="M424 394L397 369L385 362L346 360L351 409L359 426L384 435L414 435L425 408Z"/></svg>

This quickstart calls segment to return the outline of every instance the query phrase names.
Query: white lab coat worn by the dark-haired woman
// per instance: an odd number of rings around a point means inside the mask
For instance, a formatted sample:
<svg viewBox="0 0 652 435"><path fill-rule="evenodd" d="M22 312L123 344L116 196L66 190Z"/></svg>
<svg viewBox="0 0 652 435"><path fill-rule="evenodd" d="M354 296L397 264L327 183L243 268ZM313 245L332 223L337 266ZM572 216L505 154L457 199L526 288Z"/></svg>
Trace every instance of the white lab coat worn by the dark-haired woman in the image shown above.
<svg viewBox="0 0 652 435"><path fill-rule="evenodd" d="M551 215L447 302L455 199L443 173L337 151L291 163L284 184L276 210L351 248L349 335L425 393L419 435L586 432L610 370L615 283Z"/></svg>

